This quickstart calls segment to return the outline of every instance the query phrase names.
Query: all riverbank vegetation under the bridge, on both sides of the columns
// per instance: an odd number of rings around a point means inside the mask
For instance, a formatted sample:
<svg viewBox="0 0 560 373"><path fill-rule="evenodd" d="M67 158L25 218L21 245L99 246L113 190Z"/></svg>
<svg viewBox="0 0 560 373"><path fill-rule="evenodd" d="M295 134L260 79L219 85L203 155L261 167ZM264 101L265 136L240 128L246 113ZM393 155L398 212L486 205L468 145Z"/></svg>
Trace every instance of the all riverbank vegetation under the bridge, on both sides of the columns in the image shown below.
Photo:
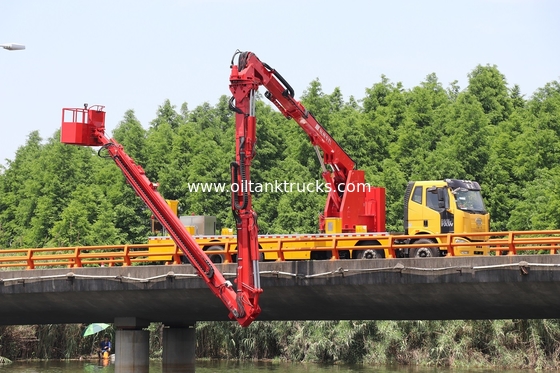
<svg viewBox="0 0 560 373"><path fill-rule="evenodd" d="M2 327L0 355L12 360L95 358L101 335L83 338L85 327ZM160 358L163 325L153 323L149 330L150 356ZM560 368L558 320L257 321L247 328L235 322L199 322L196 337L197 358L208 359Z"/></svg>

